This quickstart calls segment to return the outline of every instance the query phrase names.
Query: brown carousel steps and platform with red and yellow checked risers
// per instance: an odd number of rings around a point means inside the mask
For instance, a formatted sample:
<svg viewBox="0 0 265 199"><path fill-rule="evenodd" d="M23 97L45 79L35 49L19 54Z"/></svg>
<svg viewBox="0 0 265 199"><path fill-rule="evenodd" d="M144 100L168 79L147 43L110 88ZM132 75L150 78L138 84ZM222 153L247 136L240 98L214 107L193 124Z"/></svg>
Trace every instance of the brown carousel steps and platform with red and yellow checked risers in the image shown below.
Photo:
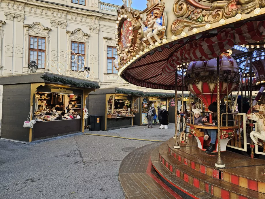
<svg viewBox="0 0 265 199"><path fill-rule="evenodd" d="M174 149L173 142L173 139L167 142L168 150L165 144L161 145L158 149L160 164L152 163L162 172L161 176L176 187L181 180L217 198L265 198L265 176L260 174L264 172L264 160L227 151L222 152L222 157L228 168L219 169L214 165L217 156L209 156L194 146Z"/></svg>

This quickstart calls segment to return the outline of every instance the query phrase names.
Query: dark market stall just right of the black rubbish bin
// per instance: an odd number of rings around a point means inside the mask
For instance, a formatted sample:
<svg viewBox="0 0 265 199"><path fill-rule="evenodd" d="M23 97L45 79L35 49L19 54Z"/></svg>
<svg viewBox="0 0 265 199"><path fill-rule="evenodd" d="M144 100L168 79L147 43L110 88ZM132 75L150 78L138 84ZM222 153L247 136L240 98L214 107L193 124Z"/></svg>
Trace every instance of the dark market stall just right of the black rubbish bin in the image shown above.
<svg viewBox="0 0 265 199"><path fill-rule="evenodd" d="M96 90L88 97L89 115L103 116L101 130L131 127L139 112L141 94L139 91L119 88Z"/></svg>

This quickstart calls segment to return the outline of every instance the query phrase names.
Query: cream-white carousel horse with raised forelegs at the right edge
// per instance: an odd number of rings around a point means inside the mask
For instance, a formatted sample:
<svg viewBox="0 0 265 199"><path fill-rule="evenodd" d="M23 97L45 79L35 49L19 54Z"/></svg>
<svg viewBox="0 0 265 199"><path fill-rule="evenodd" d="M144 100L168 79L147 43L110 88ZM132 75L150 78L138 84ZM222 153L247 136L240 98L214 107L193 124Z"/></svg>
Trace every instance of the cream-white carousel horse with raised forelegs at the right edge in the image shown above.
<svg viewBox="0 0 265 199"><path fill-rule="evenodd" d="M258 142L257 138L265 140L265 115L260 113L249 113L246 114L247 119L257 121L257 126L260 132L251 131L250 138L255 142L255 144L263 147L262 143Z"/></svg>

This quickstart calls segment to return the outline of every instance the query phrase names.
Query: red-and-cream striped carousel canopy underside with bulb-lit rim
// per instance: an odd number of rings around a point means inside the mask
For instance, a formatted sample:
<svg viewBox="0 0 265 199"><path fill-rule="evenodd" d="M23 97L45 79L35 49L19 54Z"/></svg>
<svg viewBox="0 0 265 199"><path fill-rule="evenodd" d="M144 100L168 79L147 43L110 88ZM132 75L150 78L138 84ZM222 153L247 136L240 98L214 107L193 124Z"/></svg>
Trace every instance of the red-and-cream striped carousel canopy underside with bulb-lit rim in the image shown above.
<svg viewBox="0 0 265 199"><path fill-rule="evenodd" d="M147 44L146 48L145 44L143 44L141 50L136 51L134 54L131 53L131 57L126 57L127 60L120 61L119 74L124 80L137 86L174 90L175 71L178 67L183 67L183 65L187 65L191 61L213 59L233 48L234 45L256 43L264 39L265 9L258 8L258 14L257 9L254 9L251 12L248 11L248 14L242 16L239 14L240 17L238 15L233 18L224 17L225 20L219 19L219 21L211 24L203 24L204 26L198 25L197 28L188 29L188 31L183 31L177 36L173 35L171 39L163 39L164 37L162 36L164 35L161 35L162 43L156 42L154 46L151 46L150 43L148 46L148 42L141 40ZM185 26L182 25L182 30L184 29ZM139 46L140 43L138 40ZM135 47L133 42L131 45ZM121 52L123 50L121 47L117 49ZM129 52L131 51L129 50ZM121 59L123 58L122 56L120 57ZM180 78L179 83L181 84L181 82Z"/></svg>

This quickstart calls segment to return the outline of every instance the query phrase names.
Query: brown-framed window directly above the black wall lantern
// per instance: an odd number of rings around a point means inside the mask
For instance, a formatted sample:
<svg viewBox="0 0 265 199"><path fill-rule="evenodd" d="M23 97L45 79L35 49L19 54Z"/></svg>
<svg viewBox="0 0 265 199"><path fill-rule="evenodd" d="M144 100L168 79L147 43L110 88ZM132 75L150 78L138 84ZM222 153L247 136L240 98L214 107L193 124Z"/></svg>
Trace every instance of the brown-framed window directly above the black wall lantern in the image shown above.
<svg viewBox="0 0 265 199"><path fill-rule="evenodd" d="M39 68L45 68L45 38L29 37L29 63L36 61Z"/></svg>

